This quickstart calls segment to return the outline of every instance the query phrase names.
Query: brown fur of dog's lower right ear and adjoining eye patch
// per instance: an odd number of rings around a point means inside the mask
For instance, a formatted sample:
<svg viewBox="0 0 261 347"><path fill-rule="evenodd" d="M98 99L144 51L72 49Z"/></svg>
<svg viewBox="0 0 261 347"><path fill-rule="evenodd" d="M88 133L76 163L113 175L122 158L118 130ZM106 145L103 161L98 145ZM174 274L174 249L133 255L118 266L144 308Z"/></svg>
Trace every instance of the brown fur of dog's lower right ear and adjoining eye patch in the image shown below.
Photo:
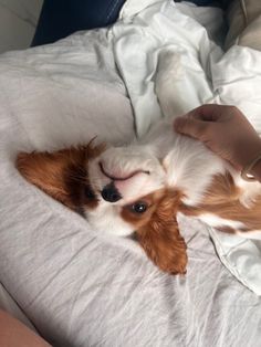
<svg viewBox="0 0 261 347"><path fill-rule="evenodd" d="M185 274L186 243L179 233L176 214L181 194L175 190L158 190L142 199L148 204L145 213L124 207L122 217L136 228L137 239L148 257L163 271Z"/></svg>

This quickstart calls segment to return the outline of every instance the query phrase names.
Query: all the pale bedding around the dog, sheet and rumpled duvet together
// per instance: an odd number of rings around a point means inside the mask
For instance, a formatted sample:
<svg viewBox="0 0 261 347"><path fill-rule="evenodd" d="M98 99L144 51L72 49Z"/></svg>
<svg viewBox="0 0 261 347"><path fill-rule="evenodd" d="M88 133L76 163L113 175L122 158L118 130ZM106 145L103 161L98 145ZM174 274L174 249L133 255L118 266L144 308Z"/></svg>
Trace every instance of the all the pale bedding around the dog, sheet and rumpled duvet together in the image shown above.
<svg viewBox="0 0 261 347"><path fill-rule="evenodd" d="M218 9L128 0L109 29L0 56L0 282L55 346L252 347L261 339L260 241L181 219L188 273L169 276L132 241L97 235L13 165L19 150L95 135L126 143L134 128L140 136L164 115L207 102L236 104L261 130L261 53L233 46L223 54L209 40L220 39L221 24Z"/></svg>

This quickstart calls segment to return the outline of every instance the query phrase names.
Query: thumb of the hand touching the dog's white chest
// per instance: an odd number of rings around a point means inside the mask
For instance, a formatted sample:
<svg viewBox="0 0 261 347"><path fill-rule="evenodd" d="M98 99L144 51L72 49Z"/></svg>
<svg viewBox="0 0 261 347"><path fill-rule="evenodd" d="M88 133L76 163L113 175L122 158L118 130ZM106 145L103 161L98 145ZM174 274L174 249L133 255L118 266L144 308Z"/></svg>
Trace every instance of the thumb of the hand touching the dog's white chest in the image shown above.
<svg viewBox="0 0 261 347"><path fill-rule="evenodd" d="M174 128L177 133L200 139L206 129L206 122L190 117L177 117L174 120Z"/></svg>

